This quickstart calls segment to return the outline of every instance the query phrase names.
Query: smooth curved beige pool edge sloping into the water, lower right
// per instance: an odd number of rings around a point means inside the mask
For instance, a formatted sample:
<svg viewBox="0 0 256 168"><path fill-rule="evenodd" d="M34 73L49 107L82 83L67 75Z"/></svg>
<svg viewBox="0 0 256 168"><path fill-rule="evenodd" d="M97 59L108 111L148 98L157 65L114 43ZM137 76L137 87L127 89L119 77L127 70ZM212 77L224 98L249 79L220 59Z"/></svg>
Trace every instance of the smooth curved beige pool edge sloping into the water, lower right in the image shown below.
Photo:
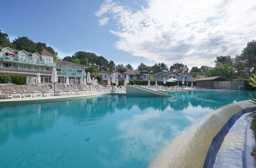
<svg viewBox="0 0 256 168"><path fill-rule="evenodd" d="M173 139L148 167L203 167L212 139L233 115L251 105L245 100L210 111Z"/></svg>

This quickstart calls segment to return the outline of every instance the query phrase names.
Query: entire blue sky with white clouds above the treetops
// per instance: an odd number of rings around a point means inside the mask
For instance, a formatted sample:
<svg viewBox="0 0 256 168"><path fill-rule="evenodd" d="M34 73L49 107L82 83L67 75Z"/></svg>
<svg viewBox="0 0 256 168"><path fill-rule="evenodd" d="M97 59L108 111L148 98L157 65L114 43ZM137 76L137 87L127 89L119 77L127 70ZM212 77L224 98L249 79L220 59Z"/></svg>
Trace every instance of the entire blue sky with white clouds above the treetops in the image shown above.
<svg viewBox="0 0 256 168"><path fill-rule="evenodd" d="M10 8L0 11L7 20L0 29L11 39L46 42L61 58L86 50L134 67L141 62L213 66L218 55L234 57L256 36L254 0L11 0L3 5L19 11L18 17Z"/></svg>

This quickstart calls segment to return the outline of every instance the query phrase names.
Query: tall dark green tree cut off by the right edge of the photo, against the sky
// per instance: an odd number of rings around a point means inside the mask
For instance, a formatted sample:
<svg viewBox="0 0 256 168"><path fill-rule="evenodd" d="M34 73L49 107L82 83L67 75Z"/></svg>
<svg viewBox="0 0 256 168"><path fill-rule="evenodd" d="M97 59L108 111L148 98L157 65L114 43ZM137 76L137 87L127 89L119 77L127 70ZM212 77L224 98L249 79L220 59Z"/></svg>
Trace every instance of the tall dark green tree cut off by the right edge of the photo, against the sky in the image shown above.
<svg viewBox="0 0 256 168"><path fill-rule="evenodd" d="M244 61L245 66L248 68L248 75L250 72L256 71L256 41L252 40L247 43L247 46L242 50L241 59Z"/></svg>

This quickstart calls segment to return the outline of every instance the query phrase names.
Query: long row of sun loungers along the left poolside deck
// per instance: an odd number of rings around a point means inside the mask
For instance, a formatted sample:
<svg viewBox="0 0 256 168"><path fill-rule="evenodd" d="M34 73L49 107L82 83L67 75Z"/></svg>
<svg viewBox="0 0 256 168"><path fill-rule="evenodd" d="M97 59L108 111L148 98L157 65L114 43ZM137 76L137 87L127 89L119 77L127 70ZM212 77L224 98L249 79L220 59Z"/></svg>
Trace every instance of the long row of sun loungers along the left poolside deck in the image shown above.
<svg viewBox="0 0 256 168"><path fill-rule="evenodd" d="M124 86L55 85L55 95L78 95L92 92L125 92ZM53 96L54 85L0 85L0 98Z"/></svg>

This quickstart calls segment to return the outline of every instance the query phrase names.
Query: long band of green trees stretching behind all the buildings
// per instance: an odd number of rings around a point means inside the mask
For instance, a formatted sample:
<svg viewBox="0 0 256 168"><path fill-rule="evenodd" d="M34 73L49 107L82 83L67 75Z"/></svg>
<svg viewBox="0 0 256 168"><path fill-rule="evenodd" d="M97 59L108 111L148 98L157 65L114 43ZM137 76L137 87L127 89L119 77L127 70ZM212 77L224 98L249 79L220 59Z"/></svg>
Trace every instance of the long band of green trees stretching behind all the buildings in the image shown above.
<svg viewBox="0 0 256 168"><path fill-rule="evenodd" d="M58 58L58 53L54 51L51 46L47 46L43 42L33 42L28 37L18 37L12 42L9 40L8 34L2 33L0 30L0 45L9 46L14 49L24 49L26 51L37 52L45 48L54 55L55 60L60 60ZM64 61L74 62L76 64L85 65L88 67L88 71L98 72L101 70L112 72L118 70L120 72L125 72L128 70L146 70L150 74L155 74L158 72L175 72L181 73L186 72L191 76L199 77L201 75L206 76L223 76L228 79L232 79L236 76L250 76L255 73L256 67L256 41L253 40L247 43L247 46L242 50L240 54L234 55L231 58L230 55L218 56L215 60L215 67L209 66L194 66L190 69L183 65L182 63L174 63L172 66L168 67L164 63L155 64L153 66L147 66L141 63L137 68L132 67L130 64L116 65L114 61L108 61L104 57L99 56L92 52L77 51L72 56L67 56L63 58Z"/></svg>

